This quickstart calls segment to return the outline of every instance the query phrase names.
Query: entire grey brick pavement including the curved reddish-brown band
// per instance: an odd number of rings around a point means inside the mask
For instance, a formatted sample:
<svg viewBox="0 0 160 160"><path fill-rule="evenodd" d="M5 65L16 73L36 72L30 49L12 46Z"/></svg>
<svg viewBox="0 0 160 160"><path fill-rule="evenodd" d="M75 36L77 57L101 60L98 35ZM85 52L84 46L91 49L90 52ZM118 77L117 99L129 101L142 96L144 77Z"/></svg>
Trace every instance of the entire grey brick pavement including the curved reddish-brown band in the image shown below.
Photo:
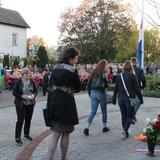
<svg viewBox="0 0 160 160"><path fill-rule="evenodd" d="M86 125L86 116L90 112L90 101L86 94L76 95L80 124L76 126L75 132L71 135L71 141L68 151L69 160L147 160L153 159L145 156L145 153L136 152L136 149L146 148L146 143L133 139L134 135L140 134L146 126L146 117L153 118L159 113L159 102L157 98L145 98L145 104L139 110L137 118L139 121L131 126L131 137L127 141L122 141L120 137L121 122L118 106L108 105L108 125L110 131L102 133L101 114L95 117L90 130L90 136L83 135L83 129ZM36 104L33 114L31 135L34 138L32 143L24 141L22 147L18 147L14 142L14 127L16 114L14 107L0 109L0 160L16 160L19 155L25 160L25 154L30 160L46 160L49 136L42 136L47 132L45 127L42 108L46 102L41 101ZM100 112L100 110L98 110ZM36 147L33 146L37 143ZM32 149L31 149L32 148ZM25 153L25 154L24 154ZM26 154L26 155L27 155ZM160 153L154 158L160 160ZM27 160L27 159L26 159ZM60 149L57 148L55 160L60 160Z"/></svg>

